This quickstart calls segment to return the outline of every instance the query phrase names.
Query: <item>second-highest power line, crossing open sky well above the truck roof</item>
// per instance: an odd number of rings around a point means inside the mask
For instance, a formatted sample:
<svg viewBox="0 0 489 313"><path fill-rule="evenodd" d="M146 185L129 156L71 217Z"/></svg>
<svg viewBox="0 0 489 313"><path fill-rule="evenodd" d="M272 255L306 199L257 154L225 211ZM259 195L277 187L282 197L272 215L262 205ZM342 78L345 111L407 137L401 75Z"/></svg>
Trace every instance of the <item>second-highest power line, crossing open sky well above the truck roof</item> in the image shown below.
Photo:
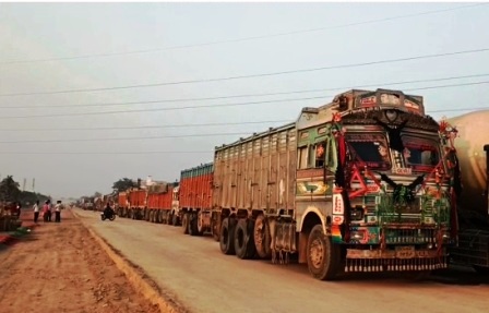
<svg viewBox="0 0 489 313"><path fill-rule="evenodd" d="M270 73L251 74L251 75L227 76L227 77L220 77L220 79L191 80L191 81L168 82L168 83L128 85L128 86L119 86L119 87L68 89L68 91L58 91L58 92L0 94L0 97L72 94L72 93L87 93L87 92L103 92L103 91L142 88L142 87L156 87L156 86L168 86L168 85L180 85L180 84L222 82L222 81L231 81L231 80L242 80L242 79L252 79L252 77L265 77L265 76L275 76L275 75L294 74L294 73L306 73L306 72L314 72L314 71L335 70L335 69L368 67L368 65L377 65L377 64L385 64L385 63L396 63L396 62L405 62L405 61L421 60L421 59L433 59L433 58L442 58L442 57L450 57L450 56L479 53L479 52L486 52L486 51L489 51L489 48L480 48L480 49L474 49L474 50L464 50L464 51L445 52L445 53L436 53L436 55L415 56L415 57L406 57L406 58L399 58L399 59L390 59L390 60L362 62L362 63L330 65L330 67L313 68L313 69L289 70L289 71L270 72Z"/></svg>

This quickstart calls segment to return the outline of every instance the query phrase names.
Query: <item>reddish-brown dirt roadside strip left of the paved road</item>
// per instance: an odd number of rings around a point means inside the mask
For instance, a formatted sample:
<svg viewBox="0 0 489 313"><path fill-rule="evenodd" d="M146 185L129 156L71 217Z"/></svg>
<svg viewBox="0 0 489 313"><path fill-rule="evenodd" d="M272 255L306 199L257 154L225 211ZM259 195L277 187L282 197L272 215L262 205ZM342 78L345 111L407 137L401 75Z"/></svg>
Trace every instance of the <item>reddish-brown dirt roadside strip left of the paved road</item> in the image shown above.
<svg viewBox="0 0 489 313"><path fill-rule="evenodd" d="M25 210L23 226L33 226ZM0 233L0 237L5 233ZM0 240L1 241L1 240ZM71 210L0 244L0 312L160 312L138 293Z"/></svg>

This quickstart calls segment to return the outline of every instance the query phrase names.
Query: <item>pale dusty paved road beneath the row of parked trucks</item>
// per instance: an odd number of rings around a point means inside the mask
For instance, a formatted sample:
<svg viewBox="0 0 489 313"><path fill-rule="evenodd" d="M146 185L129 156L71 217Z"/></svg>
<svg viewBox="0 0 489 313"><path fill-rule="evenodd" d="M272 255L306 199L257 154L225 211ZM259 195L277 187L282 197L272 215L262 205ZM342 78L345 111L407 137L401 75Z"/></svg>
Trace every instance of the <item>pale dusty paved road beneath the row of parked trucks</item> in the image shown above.
<svg viewBox="0 0 489 313"><path fill-rule="evenodd" d="M475 274L418 281L398 275L311 278L307 267L242 261L220 253L208 237L180 227L75 210L83 224L142 267L189 312L488 312L489 279ZM461 279L462 277L462 279Z"/></svg>

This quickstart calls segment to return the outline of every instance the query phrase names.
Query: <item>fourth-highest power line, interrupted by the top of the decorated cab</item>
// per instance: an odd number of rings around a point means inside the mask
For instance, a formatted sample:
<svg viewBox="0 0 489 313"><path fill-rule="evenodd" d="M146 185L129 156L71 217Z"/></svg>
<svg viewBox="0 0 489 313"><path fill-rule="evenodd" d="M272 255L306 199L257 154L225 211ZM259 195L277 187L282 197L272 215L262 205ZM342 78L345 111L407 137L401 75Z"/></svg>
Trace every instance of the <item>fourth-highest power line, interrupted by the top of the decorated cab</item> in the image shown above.
<svg viewBox="0 0 489 313"><path fill-rule="evenodd" d="M451 85L438 85L428 87L417 87L417 88L405 88L404 92L410 91L425 91L425 89L438 89L438 88L450 88L450 87L461 87L461 86L473 86L488 84L489 81L484 82L473 82L473 83L460 83ZM0 120L9 119L26 119L26 118L59 118L59 117L80 117L80 116L102 116L102 115L117 115L117 113L134 113L134 112L156 112L156 111L175 111L175 110L187 110L187 109L200 109L200 108L220 108L220 107L239 107L239 106L250 106L260 104L273 104L273 103L285 103L285 101L302 101L312 99L324 99L331 98L335 95L329 96L318 96L318 97L307 97L307 98L288 98L288 99L277 99L277 100L262 100L262 101L247 101L238 104L222 104L222 105L203 105L203 106L181 106L181 107L170 107L170 108L151 108L151 109L135 109L135 110L114 110L114 111L103 111L103 112L77 112L77 113L58 113L58 115L37 115L37 116L13 116L13 117L0 117Z"/></svg>

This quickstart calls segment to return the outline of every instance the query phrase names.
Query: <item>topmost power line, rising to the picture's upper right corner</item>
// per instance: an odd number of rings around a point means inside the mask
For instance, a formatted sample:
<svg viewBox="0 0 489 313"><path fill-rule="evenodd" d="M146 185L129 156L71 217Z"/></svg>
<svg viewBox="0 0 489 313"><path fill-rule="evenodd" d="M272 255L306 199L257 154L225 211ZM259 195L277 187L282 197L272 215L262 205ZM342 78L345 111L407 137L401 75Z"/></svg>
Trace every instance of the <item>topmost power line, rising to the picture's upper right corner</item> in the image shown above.
<svg viewBox="0 0 489 313"><path fill-rule="evenodd" d="M293 32L277 33L277 34L271 34L271 35L250 36L250 37L227 39L227 40L216 40L216 41L208 41L208 43L203 43L203 44L172 46L172 47L166 47L166 48L159 48L159 49L134 50L134 51L126 51L126 52L94 53L94 55L85 55L85 56L46 58L46 59L34 59L34 60L13 60L13 61L3 61L3 62L0 62L0 64L7 65L7 64L21 64L21 63L37 63L37 62L50 62L50 61L68 61L68 60L80 60L80 59L107 58L107 57L117 57L117 56L162 52L162 51L169 51L169 50L177 50L177 49L214 46L214 45L220 45L220 44L250 41L250 40L257 40L257 39L266 39L266 38L273 38L273 37L283 37L283 36L289 36L289 35L298 35L298 34L322 32L322 31L329 31L329 29L338 29L338 28L345 28L345 27L351 27L351 26L360 26L360 25L366 25L366 24L390 22L390 21L394 21L394 20L409 19L409 17L421 16L421 15L445 13L445 12L450 12L450 11L468 9L468 8L480 7L480 5L486 5L486 4L488 4L488 3L476 3L476 4L462 5L462 7L456 7L456 8L431 10L431 11L419 12L419 13L384 17L384 19L378 19L378 20L368 20L368 21L335 25L335 26L317 27L317 28L293 31Z"/></svg>

